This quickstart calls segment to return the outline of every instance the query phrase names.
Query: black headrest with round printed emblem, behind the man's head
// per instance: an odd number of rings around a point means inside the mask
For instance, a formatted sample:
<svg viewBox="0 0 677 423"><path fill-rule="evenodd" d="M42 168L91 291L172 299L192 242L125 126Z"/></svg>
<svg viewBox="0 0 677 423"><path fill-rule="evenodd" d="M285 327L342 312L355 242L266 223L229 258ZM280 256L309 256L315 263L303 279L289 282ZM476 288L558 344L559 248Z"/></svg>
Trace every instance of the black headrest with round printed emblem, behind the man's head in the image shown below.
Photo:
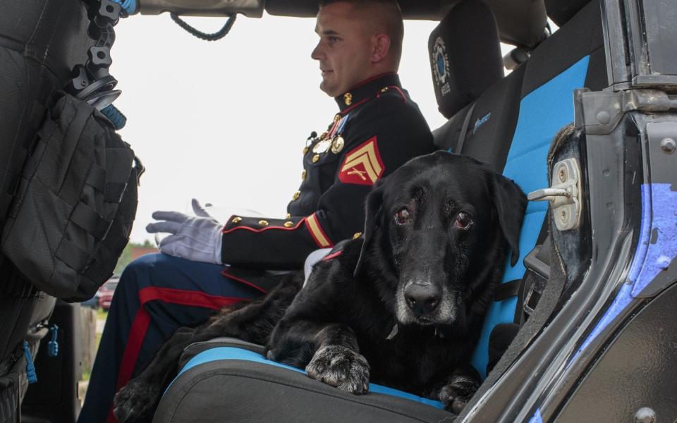
<svg viewBox="0 0 677 423"><path fill-rule="evenodd" d="M453 6L430 34L428 51L437 105L446 118L503 78L496 20L482 1Z"/></svg>

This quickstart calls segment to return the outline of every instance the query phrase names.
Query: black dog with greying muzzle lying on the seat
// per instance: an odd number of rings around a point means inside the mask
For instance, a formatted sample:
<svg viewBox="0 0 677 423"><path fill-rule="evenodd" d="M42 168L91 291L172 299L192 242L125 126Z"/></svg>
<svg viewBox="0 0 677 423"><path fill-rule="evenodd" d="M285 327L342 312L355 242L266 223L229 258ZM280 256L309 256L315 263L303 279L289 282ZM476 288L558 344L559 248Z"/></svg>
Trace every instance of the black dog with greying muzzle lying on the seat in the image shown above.
<svg viewBox="0 0 677 423"><path fill-rule="evenodd" d="M513 264L519 256L525 207L515 183L468 157L409 161L370 192L363 236L316 264L303 289L288 278L178 331L118 393L118 421L152 411L185 345L215 336L266 343L269 359L343 391L365 393L372 380L459 412L480 383L470 355L508 247Z"/></svg>

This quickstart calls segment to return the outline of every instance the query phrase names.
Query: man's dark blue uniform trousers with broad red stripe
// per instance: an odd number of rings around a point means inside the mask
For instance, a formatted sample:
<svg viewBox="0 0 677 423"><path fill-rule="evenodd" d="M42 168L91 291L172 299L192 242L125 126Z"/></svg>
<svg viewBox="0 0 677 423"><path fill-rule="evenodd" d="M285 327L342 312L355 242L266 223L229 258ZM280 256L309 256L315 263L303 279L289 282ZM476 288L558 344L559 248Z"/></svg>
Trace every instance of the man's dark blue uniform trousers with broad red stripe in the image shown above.
<svg viewBox="0 0 677 423"><path fill-rule="evenodd" d="M152 360L181 326L262 293L221 274L224 266L145 255L123 272L111 302L78 422L115 422L116 391Z"/></svg>

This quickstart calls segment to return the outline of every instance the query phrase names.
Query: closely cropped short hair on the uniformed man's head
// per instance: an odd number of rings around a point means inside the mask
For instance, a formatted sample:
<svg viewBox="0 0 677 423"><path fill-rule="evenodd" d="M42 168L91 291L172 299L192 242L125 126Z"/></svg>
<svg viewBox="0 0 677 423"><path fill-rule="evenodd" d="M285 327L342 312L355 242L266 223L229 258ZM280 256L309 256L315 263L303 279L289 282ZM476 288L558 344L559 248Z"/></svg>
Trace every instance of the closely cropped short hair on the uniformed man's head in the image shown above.
<svg viewBox="0 0 677 423"><path fill-rule="evenodd" d="M402 11L397 0L321 0L319 7L322 8L322 6L332 3L352 4L355 11L372 13L373 16L381 18L385 34L390 38L390 51L395 59L395 64L399 65L402 56L404 24L402 22Z"/></svg>

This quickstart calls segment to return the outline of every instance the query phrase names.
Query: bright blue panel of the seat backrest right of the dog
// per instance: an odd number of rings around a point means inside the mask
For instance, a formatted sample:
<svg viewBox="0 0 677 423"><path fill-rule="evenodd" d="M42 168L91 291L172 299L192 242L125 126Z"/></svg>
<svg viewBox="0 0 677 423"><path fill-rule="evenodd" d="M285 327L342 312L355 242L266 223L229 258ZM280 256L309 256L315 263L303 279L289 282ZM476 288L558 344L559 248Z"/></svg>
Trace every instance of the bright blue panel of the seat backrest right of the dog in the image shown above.
<svg viewBox="0 0 677 423"><path fill-rule="evenodd" d="M520 112L508 152L504 176L514 180L524 192L548 185L547 154L552 138L573 122L573 90L585 85L590 56L585 56L544 85L527 94L520 102ZM527 63L528 66L528 63ZM501 283L521 279L524 257L535 247L538 233L548 209L547 202L529 202L520 231L520 258L515 266L506 263ZM513 323L517 298L492 302L484 319L480 342L472 355L472 365L487 377L489 335L497 324Z"/></svg>

